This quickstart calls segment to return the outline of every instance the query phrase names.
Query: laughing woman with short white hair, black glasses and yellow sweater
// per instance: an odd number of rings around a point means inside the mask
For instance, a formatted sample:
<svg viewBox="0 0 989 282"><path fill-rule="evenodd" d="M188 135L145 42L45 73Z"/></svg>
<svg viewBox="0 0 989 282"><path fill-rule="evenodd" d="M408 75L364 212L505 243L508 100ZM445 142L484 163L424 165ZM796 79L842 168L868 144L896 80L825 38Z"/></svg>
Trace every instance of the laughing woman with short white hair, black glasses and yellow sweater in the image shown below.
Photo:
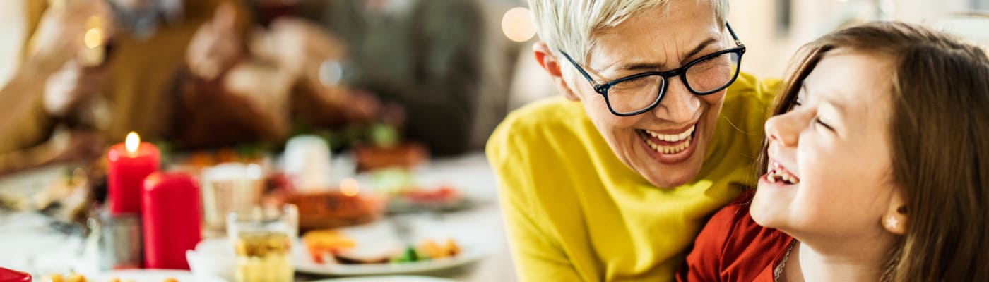
<svg viewBox="0 0 989 282"><path fill-rule="evenodd" d="M755 185L775 84L739 74L727 0L530 0L564 98L488 143L522 281L668 281L707 217Z"/></svg>

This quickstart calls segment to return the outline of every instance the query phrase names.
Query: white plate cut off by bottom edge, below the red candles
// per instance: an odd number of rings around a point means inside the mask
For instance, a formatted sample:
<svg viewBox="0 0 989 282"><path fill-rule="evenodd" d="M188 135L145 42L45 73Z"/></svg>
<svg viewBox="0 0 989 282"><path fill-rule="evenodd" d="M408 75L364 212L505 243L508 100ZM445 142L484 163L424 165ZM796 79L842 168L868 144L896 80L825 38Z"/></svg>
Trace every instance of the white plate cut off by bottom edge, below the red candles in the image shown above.
<svg viewBox="0 0 989 282"><path fill-rule="evenodd" d="M47 274L41 281L86 281L86 282L226 282L224 279L206 275L195 275L187 270L170 269L129 269L114 270L96 274Z"/></svg>

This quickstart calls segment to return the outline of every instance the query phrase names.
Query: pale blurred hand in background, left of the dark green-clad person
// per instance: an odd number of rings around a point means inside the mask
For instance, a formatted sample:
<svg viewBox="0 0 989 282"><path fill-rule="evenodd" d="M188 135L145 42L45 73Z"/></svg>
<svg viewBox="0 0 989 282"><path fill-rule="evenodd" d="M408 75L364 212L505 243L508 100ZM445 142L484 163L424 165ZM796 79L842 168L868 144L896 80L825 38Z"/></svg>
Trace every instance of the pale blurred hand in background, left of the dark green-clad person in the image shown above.
<svg viewBox="0 0 989 282"><path fill-rule="evenodd" d="M322 27L293 18L279 18L272 22L268 33L255 33L250 48L290 75L316 81L323 61L341 60L346 52L345 45Z"/></svg>

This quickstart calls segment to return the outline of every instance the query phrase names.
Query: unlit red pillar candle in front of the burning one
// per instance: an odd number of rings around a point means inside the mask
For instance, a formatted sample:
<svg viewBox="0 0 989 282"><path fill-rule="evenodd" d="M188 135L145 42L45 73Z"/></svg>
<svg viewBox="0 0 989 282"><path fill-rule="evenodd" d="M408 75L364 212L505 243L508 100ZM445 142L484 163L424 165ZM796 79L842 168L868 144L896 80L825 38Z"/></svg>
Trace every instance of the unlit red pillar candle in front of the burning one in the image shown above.
<svg viewBox="0 0 989 282"><path fill-rule="evenodd" d="M141 190L144 267L189 269L186 250L202 239L199 184L181 173L154 173Z"/></svg>

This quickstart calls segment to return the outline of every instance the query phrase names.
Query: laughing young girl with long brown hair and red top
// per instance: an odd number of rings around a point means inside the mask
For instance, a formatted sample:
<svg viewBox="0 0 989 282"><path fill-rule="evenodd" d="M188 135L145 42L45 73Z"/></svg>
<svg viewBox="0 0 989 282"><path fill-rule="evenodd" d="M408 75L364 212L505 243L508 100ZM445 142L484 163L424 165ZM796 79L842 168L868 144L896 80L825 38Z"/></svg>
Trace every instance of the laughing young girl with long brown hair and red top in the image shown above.
<svg viewBox="0 0 989 282"><path fill-rule="evenodd" d="M759 188L711 218L678 280L989 281L986 53L902 23L803 50Z"/></svg>

